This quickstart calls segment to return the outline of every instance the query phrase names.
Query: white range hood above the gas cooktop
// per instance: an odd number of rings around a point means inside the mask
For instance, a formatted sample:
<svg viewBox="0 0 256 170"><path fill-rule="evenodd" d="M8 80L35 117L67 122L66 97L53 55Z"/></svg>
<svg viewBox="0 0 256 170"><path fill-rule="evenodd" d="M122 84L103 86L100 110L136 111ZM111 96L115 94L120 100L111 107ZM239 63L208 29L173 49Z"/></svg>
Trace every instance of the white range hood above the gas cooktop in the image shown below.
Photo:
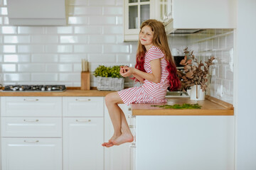
<svg viewBox="0 0 256 170"><path fill-rule="evenodd" d="M65 26L65 0L8 0L13 26Z"/></svg>

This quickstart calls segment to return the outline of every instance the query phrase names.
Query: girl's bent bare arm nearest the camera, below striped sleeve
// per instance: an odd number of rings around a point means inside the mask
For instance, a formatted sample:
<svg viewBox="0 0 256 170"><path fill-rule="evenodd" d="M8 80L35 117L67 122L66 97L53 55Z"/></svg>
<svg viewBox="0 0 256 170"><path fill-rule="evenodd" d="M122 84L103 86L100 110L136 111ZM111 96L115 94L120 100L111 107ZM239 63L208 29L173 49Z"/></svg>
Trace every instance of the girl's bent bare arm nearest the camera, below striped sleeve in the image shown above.
<svg viewBox="0 0 256 170"><path fill-rule="evenodd" d="M142 79L147 79L148 81L152 81L154 83L160 83L160 81L161 81L160 59L151 60L150 64L151 64L152 73L146 73L146 72L140 71L139 69L135 69L133 67L127 67L127 68L125 68L127 70L127 72L125 72L122 76L129 77L132 74L134 74L135 77L138 76ZM139 81L140 81L140 79L139 79Z"/></svg>

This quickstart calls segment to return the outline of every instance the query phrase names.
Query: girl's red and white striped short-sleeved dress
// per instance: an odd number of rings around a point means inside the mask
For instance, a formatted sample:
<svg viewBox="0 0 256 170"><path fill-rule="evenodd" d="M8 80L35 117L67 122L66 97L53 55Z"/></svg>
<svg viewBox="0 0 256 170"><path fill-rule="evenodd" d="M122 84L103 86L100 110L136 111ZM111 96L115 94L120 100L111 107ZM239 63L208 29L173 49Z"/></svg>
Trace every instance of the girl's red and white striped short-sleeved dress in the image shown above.
<svg viewBox="0 0 256 170"><path fill-rule="evenodd" d="M154 83L148 80L144 80L142 86L135 86L122 91L117 91L122 101L129 105L131 103L161 103L167 102L165 96L167 88L169 87L169 72L166 69L167 62L159 47L154 45L145 54L144 69L147 73L152 73L151 60L161 59L161 81L160 83Z"/></svg>

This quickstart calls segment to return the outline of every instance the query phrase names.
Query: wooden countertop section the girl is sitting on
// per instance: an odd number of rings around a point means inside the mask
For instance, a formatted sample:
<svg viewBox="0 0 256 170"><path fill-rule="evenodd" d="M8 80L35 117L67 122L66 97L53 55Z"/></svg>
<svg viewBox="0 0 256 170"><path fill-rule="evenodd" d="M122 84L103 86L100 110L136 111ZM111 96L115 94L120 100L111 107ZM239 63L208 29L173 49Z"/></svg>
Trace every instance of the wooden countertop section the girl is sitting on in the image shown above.
<svg viewBox="0 0 256 170"><path fill-rule="evenodd" d="M159 108L151 105L174 105L198 103L199 109ZM191 101L190 98L169 98L167 103L132 104L132 115L234 115L233 105L217 98L206 96L204 101Z"/></svg>

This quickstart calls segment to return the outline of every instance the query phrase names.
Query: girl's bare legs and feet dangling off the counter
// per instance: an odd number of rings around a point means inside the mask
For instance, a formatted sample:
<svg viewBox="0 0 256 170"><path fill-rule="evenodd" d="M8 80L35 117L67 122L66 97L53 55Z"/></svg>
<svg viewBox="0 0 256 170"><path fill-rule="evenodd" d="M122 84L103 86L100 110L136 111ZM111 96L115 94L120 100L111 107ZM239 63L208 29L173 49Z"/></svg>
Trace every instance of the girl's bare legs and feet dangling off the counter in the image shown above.
<svg viewBox="0 0 256 170"><path fill-rule="evenodd" d="M119 103L123 102L117 92L108 94L105 97L105 103L114 127L114 135L111 137L109 142L105 142L104 144L102 144L102 146L112 147L113 145L120 145L124 142L132 142L133 136L131 131L129 130L127 120L124 116L122 109L118 106ZM122 141L120 139L122 139Z"/></svg>

